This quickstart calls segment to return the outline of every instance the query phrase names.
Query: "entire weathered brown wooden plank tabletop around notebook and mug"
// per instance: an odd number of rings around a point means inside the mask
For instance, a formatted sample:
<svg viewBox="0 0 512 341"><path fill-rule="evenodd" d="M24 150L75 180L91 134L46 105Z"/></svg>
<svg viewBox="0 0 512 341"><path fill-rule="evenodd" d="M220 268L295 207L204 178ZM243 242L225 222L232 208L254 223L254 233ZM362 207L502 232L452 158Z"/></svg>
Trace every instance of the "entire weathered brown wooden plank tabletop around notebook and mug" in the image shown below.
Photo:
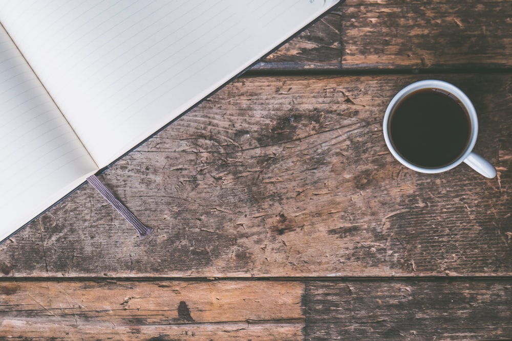
<svg viewBox="0 0 512 341"><path fill-rule="evenodd" d="M475 151L416 173L382 118L420 79ZM0 245L0 338L512 339L512 2L347 0Z"/></svg>

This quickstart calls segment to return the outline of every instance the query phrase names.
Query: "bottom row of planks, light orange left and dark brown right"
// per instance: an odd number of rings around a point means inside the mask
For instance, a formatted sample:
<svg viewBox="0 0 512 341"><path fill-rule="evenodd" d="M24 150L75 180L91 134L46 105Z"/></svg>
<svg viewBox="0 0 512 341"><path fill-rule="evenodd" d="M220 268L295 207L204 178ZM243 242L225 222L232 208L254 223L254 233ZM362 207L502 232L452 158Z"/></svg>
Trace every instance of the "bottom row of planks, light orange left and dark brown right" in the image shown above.
<svg viewBox="0 0 512 341"><path fill-rule="evenodd" d="M0 338L9 339L512 338L512 285L502 279L1 284Z"/></svg>

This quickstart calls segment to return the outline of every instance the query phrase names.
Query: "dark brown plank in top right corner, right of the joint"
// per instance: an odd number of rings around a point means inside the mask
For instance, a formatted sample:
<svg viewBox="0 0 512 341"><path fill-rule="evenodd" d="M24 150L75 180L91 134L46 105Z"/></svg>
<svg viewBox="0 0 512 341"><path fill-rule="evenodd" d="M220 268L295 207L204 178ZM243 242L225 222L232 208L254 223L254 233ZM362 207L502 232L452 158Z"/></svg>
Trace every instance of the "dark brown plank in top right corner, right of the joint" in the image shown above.
<svg viewBox="0 0 512 341"><path fill-rule="evenodd" d="M343 11L343 69L512 66L509 1L360 1Z"/></svg>

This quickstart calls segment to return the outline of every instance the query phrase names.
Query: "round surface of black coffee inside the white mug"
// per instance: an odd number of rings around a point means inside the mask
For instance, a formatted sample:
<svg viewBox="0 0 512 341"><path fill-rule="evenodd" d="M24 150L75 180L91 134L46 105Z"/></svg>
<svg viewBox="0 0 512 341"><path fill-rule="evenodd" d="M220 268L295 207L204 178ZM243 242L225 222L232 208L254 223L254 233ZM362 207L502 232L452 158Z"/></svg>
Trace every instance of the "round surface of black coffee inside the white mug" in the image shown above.
<svg viewBox="0 0 512 341"><path fill-rule="evenodd" d="M462 105L434 89L408 95L391 115L389 133L398 153L425 168L451 164L470 140L470 123Z"/></svg>

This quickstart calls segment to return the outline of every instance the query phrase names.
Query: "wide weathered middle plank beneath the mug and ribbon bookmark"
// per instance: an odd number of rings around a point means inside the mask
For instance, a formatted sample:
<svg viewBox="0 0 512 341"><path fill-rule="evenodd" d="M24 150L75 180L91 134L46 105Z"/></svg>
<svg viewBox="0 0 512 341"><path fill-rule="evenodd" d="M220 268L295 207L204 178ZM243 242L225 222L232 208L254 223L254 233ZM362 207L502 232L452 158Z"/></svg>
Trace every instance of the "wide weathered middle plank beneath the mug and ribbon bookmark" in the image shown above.
<svg viewBox="0 0 512 341"><path fill-rule="evenodd" d="M511 74L441 75L473 100L498 168L419 174L382 138L421 76L242 78L0 245L3 276L512 274Z"/></svg>

